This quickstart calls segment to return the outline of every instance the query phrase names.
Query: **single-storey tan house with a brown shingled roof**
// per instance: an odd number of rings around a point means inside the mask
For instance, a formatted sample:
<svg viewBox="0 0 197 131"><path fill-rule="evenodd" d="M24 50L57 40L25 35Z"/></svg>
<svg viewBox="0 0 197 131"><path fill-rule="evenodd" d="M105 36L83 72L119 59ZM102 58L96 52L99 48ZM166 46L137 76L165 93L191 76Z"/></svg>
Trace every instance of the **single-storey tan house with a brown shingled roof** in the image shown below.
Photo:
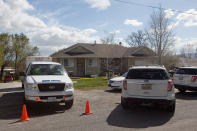
<svg viewBox="0 0 197 131"><path fill-rule="evenodd" d="M117 44L78 43L51 55L73 76L105 75L127 72L132 65L156 63L155 53L148 47L124 47Z"/></svg>

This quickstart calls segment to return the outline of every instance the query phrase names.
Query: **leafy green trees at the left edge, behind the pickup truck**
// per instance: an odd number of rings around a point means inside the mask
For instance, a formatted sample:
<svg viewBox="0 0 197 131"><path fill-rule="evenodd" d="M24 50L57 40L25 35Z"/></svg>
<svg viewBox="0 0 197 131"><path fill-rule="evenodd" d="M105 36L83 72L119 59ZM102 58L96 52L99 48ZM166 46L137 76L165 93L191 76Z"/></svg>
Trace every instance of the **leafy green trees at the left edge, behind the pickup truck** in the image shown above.
<svg viewBox="0 0 197 131"><path fill-rule="evenodd" d="M0 79L2 80L4 67L11 66L12 63L14 63L15 74L18 77L18 72L24 70L26 57L38 54L38 48L32 47L24 34L0 34Z"/></svg>

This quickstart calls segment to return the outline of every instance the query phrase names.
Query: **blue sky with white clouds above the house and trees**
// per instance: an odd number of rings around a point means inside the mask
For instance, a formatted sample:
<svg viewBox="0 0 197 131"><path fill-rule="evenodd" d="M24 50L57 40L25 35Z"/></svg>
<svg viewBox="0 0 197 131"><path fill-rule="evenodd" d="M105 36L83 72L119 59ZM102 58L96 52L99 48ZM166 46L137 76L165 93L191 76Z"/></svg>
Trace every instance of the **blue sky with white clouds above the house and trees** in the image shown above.
<svg viewBox="0 0 197 131"><path fill-rule="evenodd" d="M44 56L76 43L99 43L110 33L128 46L131 32L148 28L156 10L150 6L160 5L174 27L173 50L197 47L196 0L0 0L0 33L24 33Z"/></svg>

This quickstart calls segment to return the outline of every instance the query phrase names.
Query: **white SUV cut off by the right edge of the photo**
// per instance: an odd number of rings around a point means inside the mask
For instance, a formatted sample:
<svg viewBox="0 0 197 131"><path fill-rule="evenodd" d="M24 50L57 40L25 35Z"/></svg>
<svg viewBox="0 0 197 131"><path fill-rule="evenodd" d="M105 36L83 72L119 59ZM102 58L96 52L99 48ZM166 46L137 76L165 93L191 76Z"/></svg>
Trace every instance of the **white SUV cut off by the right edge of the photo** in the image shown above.
<svg viewBox="0 0 197 131"><path fill-rule="evenodd" d="M197 67L180 67L174 74L174 86L180 92L197 91Z"/></svg>

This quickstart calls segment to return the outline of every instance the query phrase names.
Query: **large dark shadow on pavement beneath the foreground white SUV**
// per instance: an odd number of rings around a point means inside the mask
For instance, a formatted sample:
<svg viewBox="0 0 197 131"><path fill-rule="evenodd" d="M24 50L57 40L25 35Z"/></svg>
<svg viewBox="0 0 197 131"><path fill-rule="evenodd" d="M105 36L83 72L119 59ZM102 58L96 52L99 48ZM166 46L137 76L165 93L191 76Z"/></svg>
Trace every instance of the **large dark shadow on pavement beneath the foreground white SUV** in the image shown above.
<svg viewBox="0 0 197 131"><path fill-rule="evenodd" d="M108 116L107 123L112 126L125 128L147 128L160 126L168 122L173 113L153 107L136 107L123 110L118 105Z"/></svg>

